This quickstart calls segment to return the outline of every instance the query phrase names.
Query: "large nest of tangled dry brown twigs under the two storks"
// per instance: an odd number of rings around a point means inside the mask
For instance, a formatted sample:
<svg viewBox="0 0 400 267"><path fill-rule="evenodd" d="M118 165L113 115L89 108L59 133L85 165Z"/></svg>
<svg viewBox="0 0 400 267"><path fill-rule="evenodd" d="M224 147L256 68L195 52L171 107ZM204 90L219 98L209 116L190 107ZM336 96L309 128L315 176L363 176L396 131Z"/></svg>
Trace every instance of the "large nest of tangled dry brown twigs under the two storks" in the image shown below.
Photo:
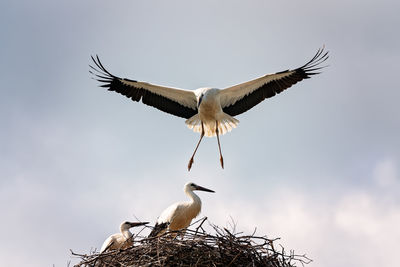
<svg viewBox="0 0 400 267"><path fill-rule="evenodd" d="M72 255L81 258L75 267L90 266L268 266L286 267L311 262L305 255L286 253L282 246L274 247L277 239L234 233L209 224L214 234L203 228L203 218L192 226L195 230L169 232L160 237L135 236L132 247L90 255ZM175 237L171 237L171 234Z"/></svg>

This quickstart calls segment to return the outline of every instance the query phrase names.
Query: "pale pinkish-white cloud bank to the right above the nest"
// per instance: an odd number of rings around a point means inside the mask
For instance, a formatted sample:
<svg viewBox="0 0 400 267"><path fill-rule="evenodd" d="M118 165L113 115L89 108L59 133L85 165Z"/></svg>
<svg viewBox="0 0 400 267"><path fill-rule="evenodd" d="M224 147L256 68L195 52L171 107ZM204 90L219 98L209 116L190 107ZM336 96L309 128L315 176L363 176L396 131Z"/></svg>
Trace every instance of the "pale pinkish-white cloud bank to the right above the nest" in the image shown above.
<svg viewBox="0 0 400 267"><path fill-rule="evenodd" d="M224 224L227 212L238 231L281 237L285 249L306 253L316 266L393 266L400 240L400 203L369 191L339 196L281 189L262 201L234 200L204 211Z"/></svg>

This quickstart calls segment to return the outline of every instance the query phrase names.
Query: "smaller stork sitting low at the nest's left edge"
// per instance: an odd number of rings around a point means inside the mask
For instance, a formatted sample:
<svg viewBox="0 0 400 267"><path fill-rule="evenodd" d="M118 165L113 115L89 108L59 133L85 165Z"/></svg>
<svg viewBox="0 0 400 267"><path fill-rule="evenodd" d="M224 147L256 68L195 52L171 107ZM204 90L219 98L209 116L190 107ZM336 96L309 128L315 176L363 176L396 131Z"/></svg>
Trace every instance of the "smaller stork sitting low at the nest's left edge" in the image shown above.
<svg viewBox="0 0 400 267"><path fill-rule="evenodd" d="M106 250L125 249L133 245L133 235L129 231L130 228L145 225L148 222L128 222L121 223L119 229L121 233L113 234L104 241L101 246L100 253Z"/></svg>

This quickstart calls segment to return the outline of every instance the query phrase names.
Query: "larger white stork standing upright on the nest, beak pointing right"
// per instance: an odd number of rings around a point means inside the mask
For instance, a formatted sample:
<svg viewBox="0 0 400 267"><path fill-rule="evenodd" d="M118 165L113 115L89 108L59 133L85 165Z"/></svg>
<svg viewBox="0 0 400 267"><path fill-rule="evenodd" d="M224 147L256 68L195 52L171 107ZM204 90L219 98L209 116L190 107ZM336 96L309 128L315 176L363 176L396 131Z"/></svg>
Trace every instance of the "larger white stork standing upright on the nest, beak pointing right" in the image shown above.
<svg viewBox="0 0 400 267"><path fill-rule="evenodd" d="M186 183L183 191L190 200L177 202L166 208L161 213L160 217L158 217L156 225L149 237L159 236L166 230L178 231L186 229L190 225L192 219L196 218L201 211L201 200L199 196L193 192L194 190L215 193L213 190L204 188L195 183Z"/></svg>

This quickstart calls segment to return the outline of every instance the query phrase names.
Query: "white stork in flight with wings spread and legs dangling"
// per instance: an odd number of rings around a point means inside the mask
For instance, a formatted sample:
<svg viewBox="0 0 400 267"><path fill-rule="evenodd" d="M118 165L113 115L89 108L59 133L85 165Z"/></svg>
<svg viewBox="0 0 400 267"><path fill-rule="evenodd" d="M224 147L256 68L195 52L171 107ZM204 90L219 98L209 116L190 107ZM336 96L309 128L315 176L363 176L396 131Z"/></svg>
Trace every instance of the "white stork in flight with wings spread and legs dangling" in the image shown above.
<svg viewBox="0 0 400 267"><path fill-rule="evenodd" d="M267 74L225 89L199 88L194 91L119 78L106 70L98 56L96 58L92 56L97 68L90 66L95 71L90 71L90 73L103 83L101 87L120 93L133 101L142 100L146 105L185 118L185 123L190 129L201 133L200 140L189 160L188 170L190 171L194 155L204 135L217 136L220 162L224 168L219 135L236 128L239 121L234 116L251 109L265 98L281 93L303 79L319 74L319 70L323 68L320 64L326 59L328 59L328 52L325 52L322 47L310 61L297 69Z"/></svg>

